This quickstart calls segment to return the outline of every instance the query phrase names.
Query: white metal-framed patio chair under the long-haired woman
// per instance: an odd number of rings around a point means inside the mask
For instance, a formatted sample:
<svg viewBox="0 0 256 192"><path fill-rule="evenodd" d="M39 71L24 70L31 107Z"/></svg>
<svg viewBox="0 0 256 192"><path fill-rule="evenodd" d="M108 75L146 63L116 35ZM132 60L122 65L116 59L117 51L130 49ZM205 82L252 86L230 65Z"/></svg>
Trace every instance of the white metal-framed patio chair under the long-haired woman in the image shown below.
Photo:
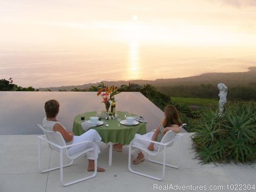
<svg viewBox="0 0 256 192"><path fill-rule="evenodd" d="M180 126L180 128L182 126L185 126L186 124L182 124ZM154 130L155 131L155 130ZM153 131L153 132L154 132ZM129 171L131 171L132 173L135 173L135 174L139 174L139 175L142 175L142 176L145 176L145 177L148 177L148 178L151 178L151 179L156 179L156 180L159 180L161 181L163 178L164 178L164 175L165 175L165 165L166 166L170 166L170 167L174 167L174 168L178 168L180 165L181 165L181 154L182 154L182 137L183 137L183 134L180 134L180 133L174 133L173 131L167 131L164 135L164 137L162 138L161 142L157 142L157 141L151 141L151 140L147 140L147 139L142 139L142 138L136 138L136 139L133 139L131 142L130 142L130 145L129 145L129 161L128 161L128 168L129 168ZM178 165L172 165L172 164L167 164L166 163L166 148L167 147L170 147L174 141L177 141L180 139L180 157L179 157L179 164ZM150 151L148 150L147 148L143 147L143 146L139 146L139 145L134 145L133 144L133 141L135 140L144 140L144 141L150 141L150 142L153 142L153 143L157 143L159 144L159 147L157 150L154 150L154 151ZM133 147L133 149L132 149ZM162 177L161 178L158 178L158 177L154 177L153 175L148 175L148 174L145 174L145 173L141 173L141 172L138 172L138 171L134 171L131 169L131 155L135 152L135 151L138 151L138 150L142 150L142 151L145 151L147 156L148 156L148 161L150 162L153 162L153 163L157 163L157 164L161 164L163 165L163 174L162 174ZM163 156L163 162L158 162L158 161L155 161L153 159L150 158L150 156L157 156L159 154L160 151L164 150L164 156Z"/></svg>

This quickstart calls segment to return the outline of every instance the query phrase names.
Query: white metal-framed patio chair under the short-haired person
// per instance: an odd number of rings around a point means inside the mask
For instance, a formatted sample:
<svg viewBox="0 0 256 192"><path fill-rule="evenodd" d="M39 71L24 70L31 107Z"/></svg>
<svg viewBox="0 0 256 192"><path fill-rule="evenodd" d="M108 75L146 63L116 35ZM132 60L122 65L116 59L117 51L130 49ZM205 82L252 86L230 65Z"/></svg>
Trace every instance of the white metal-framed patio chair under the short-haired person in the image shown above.
<svg viewBox="0 0 256 192"><path fill-rule="evenodd" d="M95 177L95 175L97 174L97 147L95 146L95 144L91 141L83 141L83 142L79 142L79 143L75 143L73 145L66 145L65 140L63 139L62 135L59 132L53 132L53 131L48 131L46 130L42 125L37 124L37 126L44 132L45 135L42 136L38 136L38 164L39 164L39 170L43 173L45 172L49 172L49 171L53 171L53 170L57 170L60 169L60 182L62 183L63 186L68 186L80 181L84 181L90 178ZM52 169L47 169L47 170L42 170L41 167L41 141L45 141L47 143L49 143L49 146L51 149L53 150L57 150L60 152L60 166L58 167L54 167ZM76 146L76 145L83 145L84 143L92 143L93 147L88 147L86 150L82 151L81 153L75 154L75 155L68 155L68 148L72 147L72 146ZM94 150L94 172L92 175L89 175L88 177L84 177L82 179L78 179L78 180L74 180L74 181L70 181L67 183L63 182L63 167L67 167L73 164L74 159L85 154L86 152L89 151L93 151ZM70 160L71 162L63 165L63 154L65 154Z"/></svg>

